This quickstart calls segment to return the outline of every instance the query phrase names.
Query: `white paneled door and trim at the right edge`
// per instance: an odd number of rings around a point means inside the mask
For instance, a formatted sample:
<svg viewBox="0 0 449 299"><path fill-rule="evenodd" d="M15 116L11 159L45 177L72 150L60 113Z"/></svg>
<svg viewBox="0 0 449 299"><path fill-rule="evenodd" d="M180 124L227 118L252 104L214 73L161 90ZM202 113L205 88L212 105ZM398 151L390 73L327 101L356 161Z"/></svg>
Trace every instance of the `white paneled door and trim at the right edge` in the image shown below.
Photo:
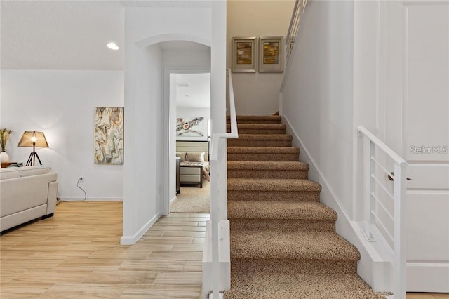
<svg viewBox="0 0 449 299"><path fill-rule="evenodd" d="M387 2L383 129L409 164L407 291L448 293L449 2Z"/></svg>

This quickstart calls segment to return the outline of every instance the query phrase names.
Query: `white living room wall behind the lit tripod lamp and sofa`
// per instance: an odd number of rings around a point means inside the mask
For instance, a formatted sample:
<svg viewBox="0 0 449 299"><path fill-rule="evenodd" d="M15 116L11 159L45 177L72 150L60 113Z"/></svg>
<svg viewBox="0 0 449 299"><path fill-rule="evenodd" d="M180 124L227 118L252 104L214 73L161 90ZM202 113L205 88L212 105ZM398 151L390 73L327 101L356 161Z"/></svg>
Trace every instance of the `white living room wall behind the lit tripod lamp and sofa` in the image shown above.
<svg viewBox="0 0 449 299"><path fill-rule="evenodd" d="M32 147L17 147L22 133L43 131L49 147L36 152L58 173L60 199L84 198L80 176L88 200L123 199L123 165L93 161L94 107L123 107L122 71L1 71L1 127L13 130L10 160L25 165Z"/></svg>

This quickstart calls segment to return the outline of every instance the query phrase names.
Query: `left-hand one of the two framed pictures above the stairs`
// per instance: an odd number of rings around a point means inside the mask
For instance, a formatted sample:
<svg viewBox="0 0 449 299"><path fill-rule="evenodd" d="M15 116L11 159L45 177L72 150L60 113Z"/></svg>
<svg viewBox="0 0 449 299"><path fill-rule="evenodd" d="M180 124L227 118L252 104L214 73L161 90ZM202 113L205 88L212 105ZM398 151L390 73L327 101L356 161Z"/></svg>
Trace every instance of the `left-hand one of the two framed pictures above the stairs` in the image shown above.
<svg viewBox="0 0 449 299"><path fill-rule="evenodd" d="M257 71L257 38L232 38L232 72Z"/></svg>

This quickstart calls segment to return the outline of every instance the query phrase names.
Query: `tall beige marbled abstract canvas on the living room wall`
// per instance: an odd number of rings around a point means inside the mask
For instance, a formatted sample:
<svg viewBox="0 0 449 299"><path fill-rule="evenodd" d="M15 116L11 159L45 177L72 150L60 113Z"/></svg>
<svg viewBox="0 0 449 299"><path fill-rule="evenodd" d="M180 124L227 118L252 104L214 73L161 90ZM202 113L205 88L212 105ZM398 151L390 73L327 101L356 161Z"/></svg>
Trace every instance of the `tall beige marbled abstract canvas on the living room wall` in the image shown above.
<svg viewBox="0 0 449 299"><path fill-rule="evenodd" d="M123 164L123 107L95 107L95 164Z"/></svg>

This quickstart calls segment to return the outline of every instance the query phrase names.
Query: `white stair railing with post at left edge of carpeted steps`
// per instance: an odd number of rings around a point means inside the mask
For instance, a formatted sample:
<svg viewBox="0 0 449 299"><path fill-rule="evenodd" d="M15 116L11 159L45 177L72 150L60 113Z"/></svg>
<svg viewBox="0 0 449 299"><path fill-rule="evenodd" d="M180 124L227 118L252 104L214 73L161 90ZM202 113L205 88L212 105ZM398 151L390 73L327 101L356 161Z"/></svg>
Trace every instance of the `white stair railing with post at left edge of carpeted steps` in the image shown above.
<svg viewBox="0 0 449 299"><path fill-rule="evenodd" d="M212 135L212 145L210 154L210 222L212 236L212 293L209 299L220 298L220 240L222 239L222 227L220 226L220 206L226 206L227 198L222 196L227 194L227 142L228 138L238 138L236 107L234 102L234 88L232 86L231 70L227 69L229 84L229 112L231 120L230 133L215 133ZM222 153L222 156L220 156ZM223 153L224 157L223 157ZM225 176L223 178L223 176ZM225 183L223 183L225 182Z"/></svg>

